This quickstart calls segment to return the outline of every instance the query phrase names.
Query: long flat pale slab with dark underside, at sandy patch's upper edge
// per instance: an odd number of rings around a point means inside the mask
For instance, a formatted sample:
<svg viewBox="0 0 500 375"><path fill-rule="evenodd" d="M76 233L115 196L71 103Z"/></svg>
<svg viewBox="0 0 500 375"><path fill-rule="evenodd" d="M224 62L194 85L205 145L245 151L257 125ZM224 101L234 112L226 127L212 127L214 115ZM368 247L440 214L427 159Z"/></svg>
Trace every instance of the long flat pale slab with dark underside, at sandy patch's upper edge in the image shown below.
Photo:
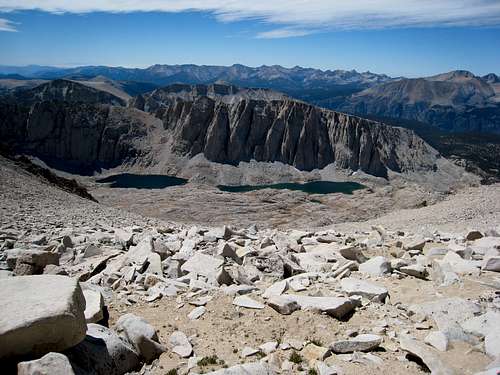
<svg viewBox="0 0 500 375"><path fill-rule="evenodd" d="M302 310L324 312L337 319L344 317L355 307L349 298L343 297L310 297L297 294L284 294L283 297L297 302Z"/></svg>

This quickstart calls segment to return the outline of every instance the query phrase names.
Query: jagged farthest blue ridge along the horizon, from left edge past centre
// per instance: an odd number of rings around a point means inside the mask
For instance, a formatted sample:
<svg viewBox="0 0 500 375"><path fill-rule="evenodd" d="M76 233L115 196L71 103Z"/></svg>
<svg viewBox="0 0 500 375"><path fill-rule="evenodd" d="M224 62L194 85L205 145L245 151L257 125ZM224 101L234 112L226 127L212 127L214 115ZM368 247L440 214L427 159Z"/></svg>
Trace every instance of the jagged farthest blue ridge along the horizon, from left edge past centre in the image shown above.
<svg viewBox="0 0 500 375"><path fill-rule="evenodd" d="M0 74L19 74L27 78L88 79L105 76L115 81L138 81L166 86L172 83L209 84L225 81L237 86L279 89L328 89L334 85L356 85L368 87L390 81L384 74L358 73L355 70L319 70L311 68L284 68L279 65L257 68L235 64L213 65L153 65L149 68L123 68L107 66L83 66L77 68L54 68L40 66L0 66Z"/></svg>

